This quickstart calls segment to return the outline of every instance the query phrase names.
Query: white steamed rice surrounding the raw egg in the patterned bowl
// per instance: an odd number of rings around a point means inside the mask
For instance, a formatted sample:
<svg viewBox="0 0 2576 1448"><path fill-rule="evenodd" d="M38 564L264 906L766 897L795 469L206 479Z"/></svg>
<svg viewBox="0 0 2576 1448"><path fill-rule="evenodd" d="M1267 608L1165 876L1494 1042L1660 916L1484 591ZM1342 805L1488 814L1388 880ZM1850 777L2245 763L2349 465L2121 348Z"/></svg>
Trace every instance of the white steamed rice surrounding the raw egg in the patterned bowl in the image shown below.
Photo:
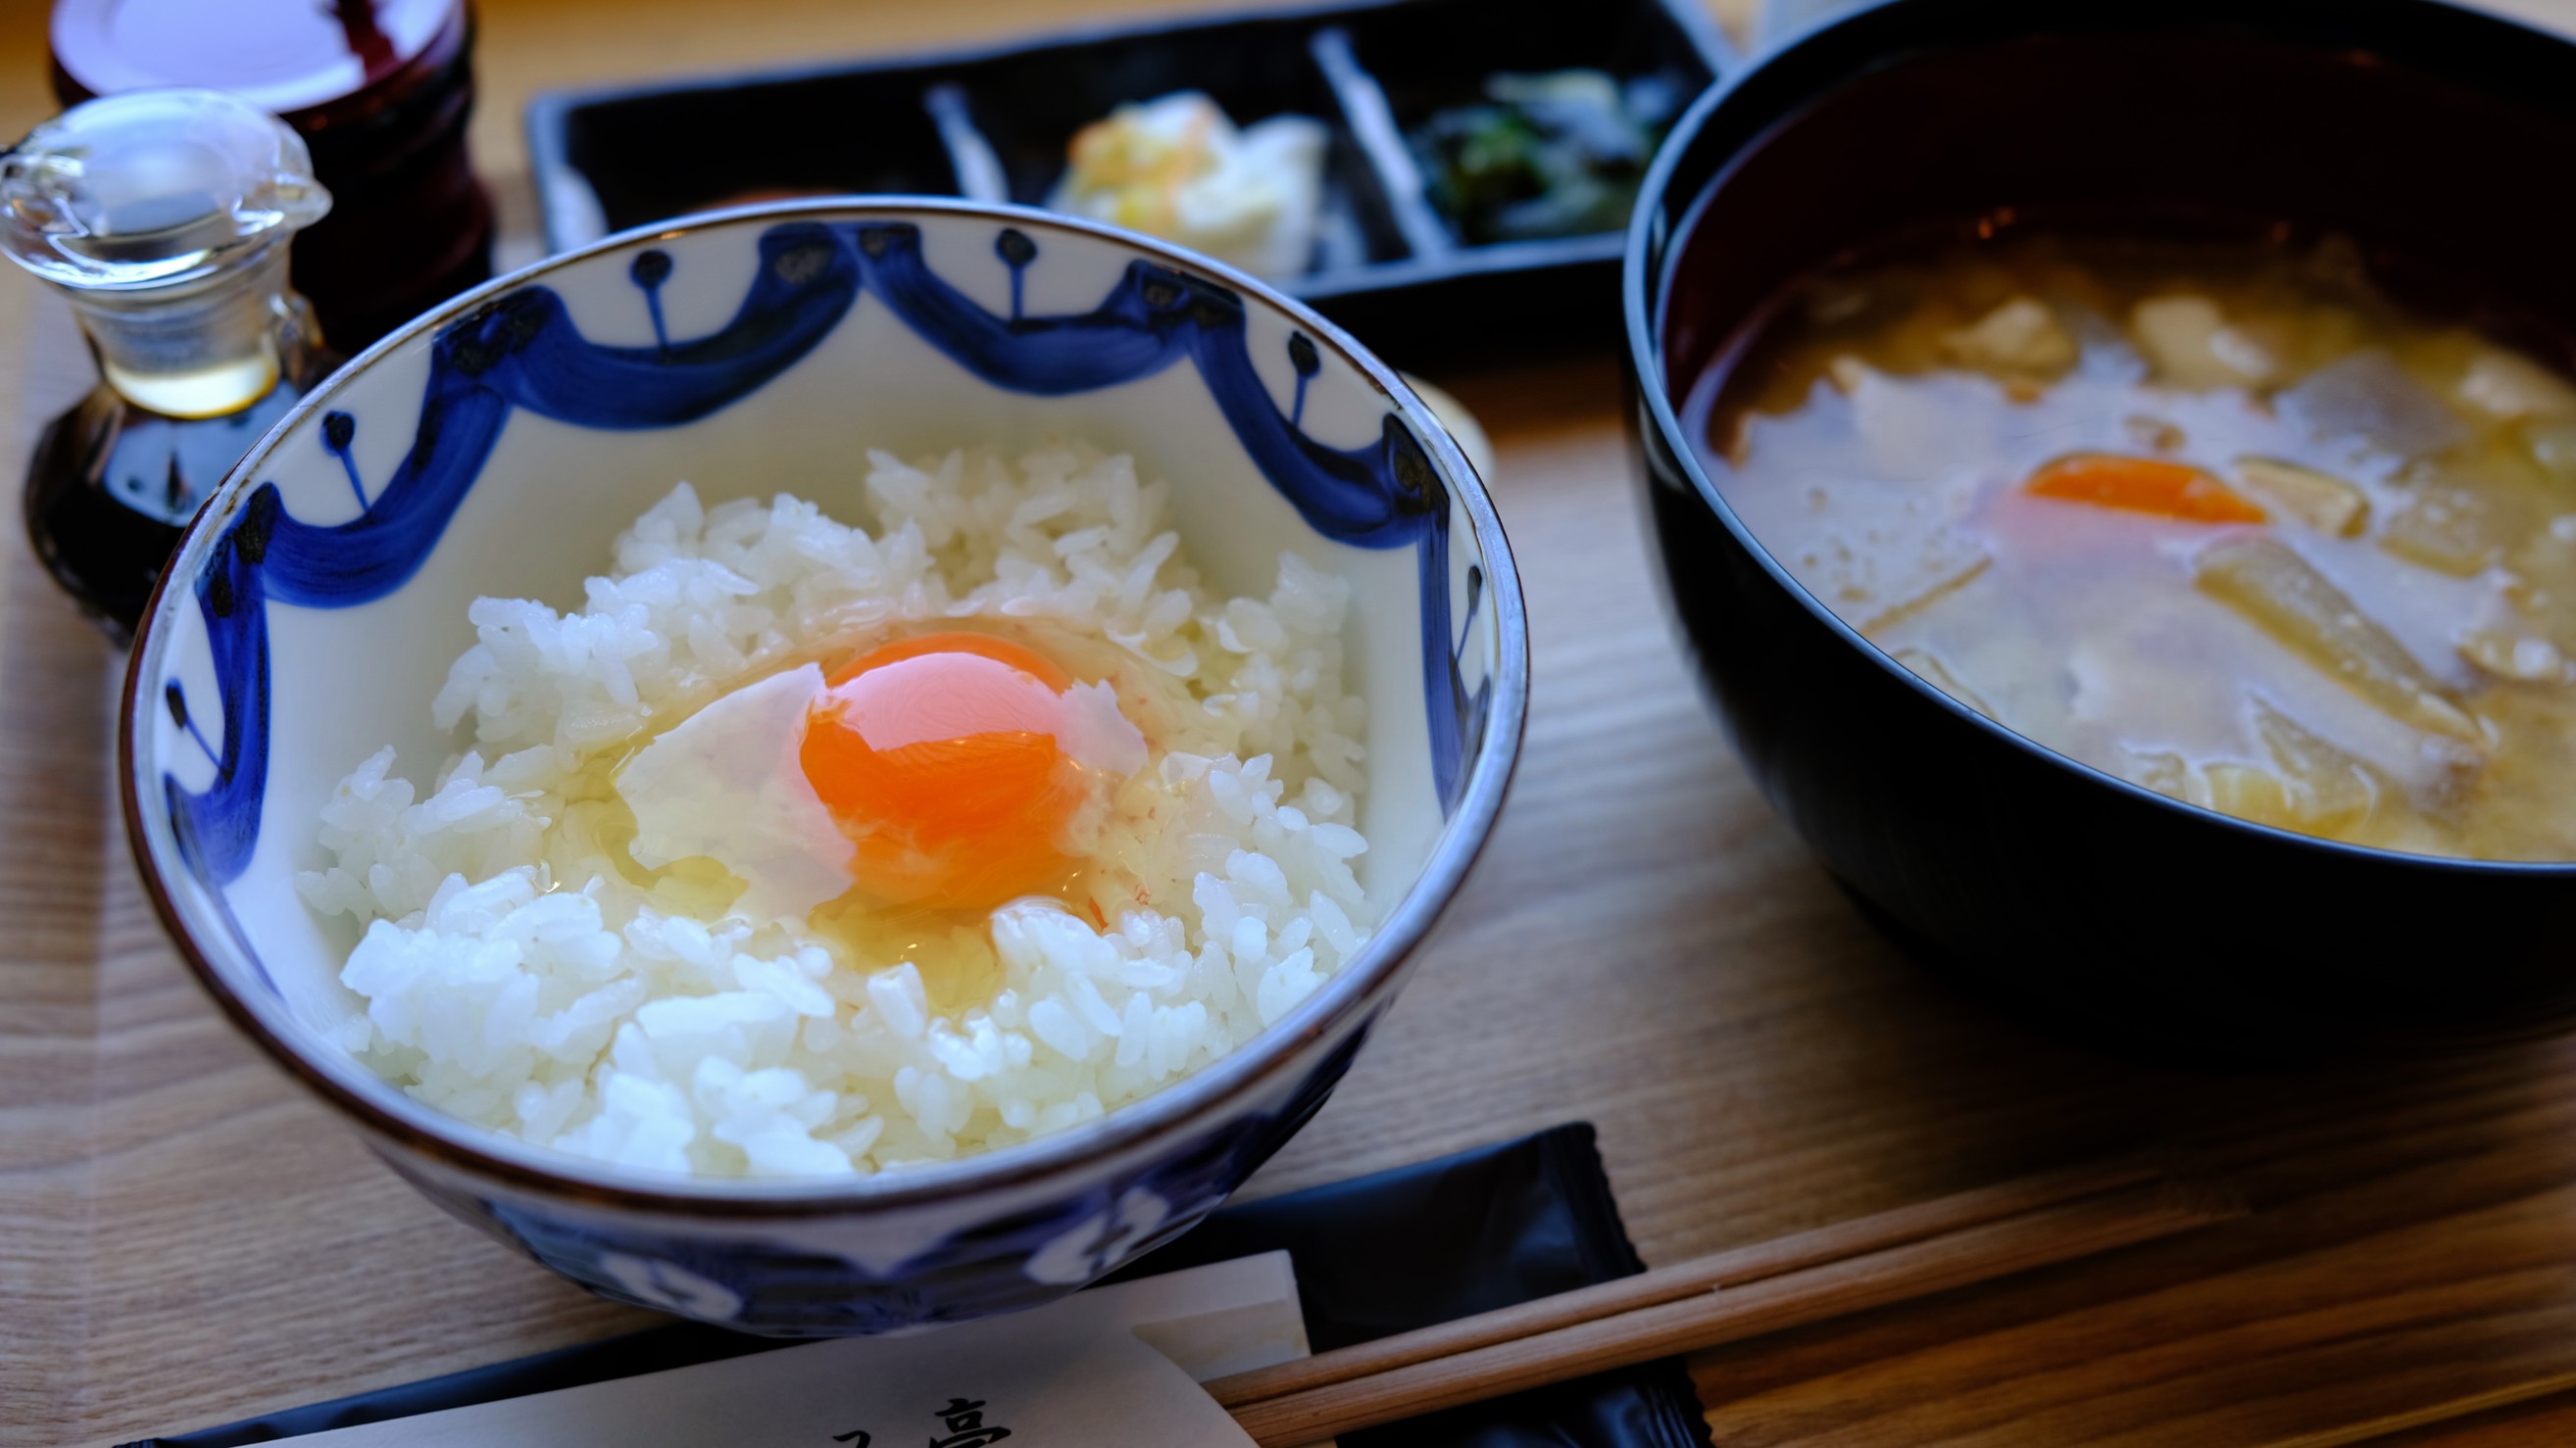
<svg viewBox="0 0 2576 1448"><path fill-rule="evenodd" d="M1015 466L871 453L863 528L799 497L714 510L680 484L574 613L479 598L435 721L471 732L433 788L361 763L296 876L363 938L340 1043L466 1121L629 1167L873 1172L1100 1116L1249 1041L1373 922L1350 861L1365 709L1342 691L1347 585L1293 554L1270 598L1216 598L1167 487L1048 446ZM791 657L889 624L1015 618L1110 639L1182 680L1231 752L1146 765L1105 868L1108 928L992 917L1002 989L938 1015L912 964L842 964L801 922L698 920L629 884L567 788ZM1133 794L1133 788L1131 788ZM1126 799L1126 796L1121 796ZM1177 809L1175 809L1177 801Z"/></svg>

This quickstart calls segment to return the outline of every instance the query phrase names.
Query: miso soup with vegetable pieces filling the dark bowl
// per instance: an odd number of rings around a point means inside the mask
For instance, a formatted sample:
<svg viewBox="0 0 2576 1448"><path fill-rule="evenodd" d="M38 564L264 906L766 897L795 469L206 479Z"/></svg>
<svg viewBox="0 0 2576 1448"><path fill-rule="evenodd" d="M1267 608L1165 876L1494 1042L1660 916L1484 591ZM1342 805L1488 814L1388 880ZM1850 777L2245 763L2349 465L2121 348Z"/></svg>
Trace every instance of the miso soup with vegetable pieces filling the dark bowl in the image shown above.
<svg viewBox="0 0 2576 1448"><path fill-rule="evenodd" d="M2050 750L2259 824L2576 861L2576 384L2349 245L1832 273L1687 420L1808 593Z"/></svg>

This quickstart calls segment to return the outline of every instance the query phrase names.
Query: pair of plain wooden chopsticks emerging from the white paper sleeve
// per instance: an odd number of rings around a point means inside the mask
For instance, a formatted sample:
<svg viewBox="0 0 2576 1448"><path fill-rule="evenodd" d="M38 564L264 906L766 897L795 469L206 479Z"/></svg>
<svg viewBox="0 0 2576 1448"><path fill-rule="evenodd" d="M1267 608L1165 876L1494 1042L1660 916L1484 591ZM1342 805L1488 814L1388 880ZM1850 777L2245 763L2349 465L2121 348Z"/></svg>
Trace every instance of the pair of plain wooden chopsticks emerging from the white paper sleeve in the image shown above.
<svg viewBox="0 0 2576 1448"><path fill-rule="evenodd" d="M2205 1180L2112 1162L1713 1252L1206 1386L1255 1443L1298 1448L2241 1214L2233 1193Z"/></svg>

